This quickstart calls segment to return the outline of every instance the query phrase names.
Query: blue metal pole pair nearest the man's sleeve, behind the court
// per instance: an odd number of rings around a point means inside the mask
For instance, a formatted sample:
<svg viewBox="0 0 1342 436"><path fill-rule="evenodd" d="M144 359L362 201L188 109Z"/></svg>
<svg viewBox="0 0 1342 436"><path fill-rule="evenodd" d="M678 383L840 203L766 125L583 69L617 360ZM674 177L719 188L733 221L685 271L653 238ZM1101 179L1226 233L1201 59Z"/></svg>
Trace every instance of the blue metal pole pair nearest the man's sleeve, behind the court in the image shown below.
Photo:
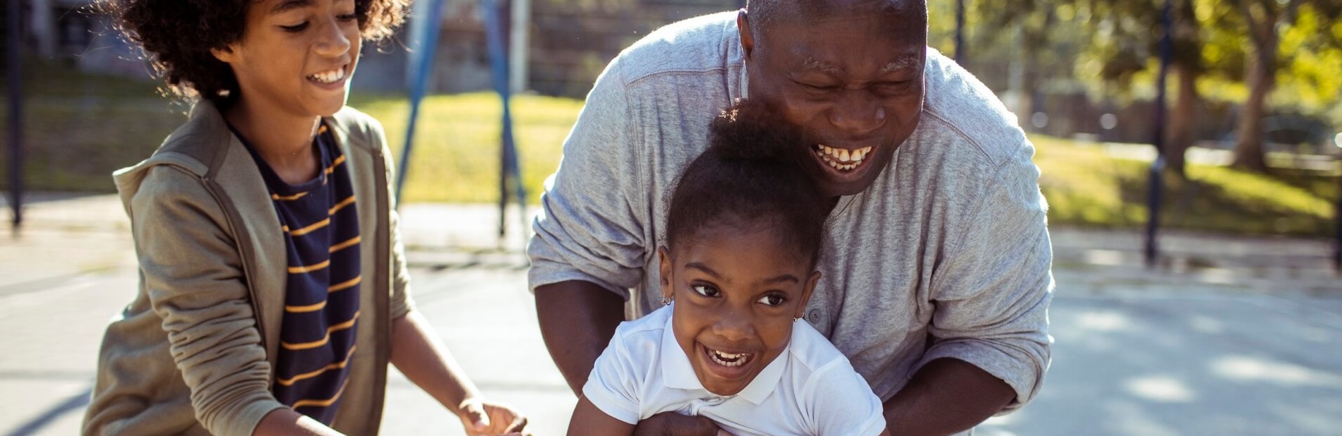
<svg viewBox="0 0 1342 436"><path fill-rule="evenodd" d="M503 105L503 118L501 119L501 162L499 162L499 237L505 233L505 209L509 197L509 184L517 193L517 207L522 220L522 232L526 232L526 186L522 185L522 168L518 162L517 146L513 141L513 90L509 86L507 51L503 43L503 19L501 1L483 0L484 5L484 32L490 51L490 75L493 76L494 91L499 94Z"/></svg>

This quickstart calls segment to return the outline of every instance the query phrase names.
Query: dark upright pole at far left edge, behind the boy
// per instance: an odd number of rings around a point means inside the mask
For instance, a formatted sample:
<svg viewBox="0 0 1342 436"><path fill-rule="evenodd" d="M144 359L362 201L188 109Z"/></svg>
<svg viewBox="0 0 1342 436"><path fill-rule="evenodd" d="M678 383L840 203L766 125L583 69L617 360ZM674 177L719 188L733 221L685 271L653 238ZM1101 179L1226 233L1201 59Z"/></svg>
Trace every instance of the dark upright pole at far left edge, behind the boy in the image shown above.
<svg viewBox="0 0 1342 436"><path fill-rule="evenodd" d="M7 1L5 7L5 70L9 91L9 208L13 209L13 227L19 233L23 224L23 25L19 0Z"/></svg>

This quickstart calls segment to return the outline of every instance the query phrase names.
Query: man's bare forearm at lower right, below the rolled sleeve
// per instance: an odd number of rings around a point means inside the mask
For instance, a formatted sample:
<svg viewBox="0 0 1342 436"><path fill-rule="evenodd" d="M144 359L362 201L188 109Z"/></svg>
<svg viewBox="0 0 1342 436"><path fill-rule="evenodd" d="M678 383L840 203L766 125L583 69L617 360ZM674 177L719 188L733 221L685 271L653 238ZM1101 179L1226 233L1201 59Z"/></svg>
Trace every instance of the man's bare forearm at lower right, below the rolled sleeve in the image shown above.
<svg viewBox="0 0 1342 436"><path fill-rule="evenodd" d="M1016 390L969 362L939 358L886 401L891 436L954 435L1001 412Z"/></svg>

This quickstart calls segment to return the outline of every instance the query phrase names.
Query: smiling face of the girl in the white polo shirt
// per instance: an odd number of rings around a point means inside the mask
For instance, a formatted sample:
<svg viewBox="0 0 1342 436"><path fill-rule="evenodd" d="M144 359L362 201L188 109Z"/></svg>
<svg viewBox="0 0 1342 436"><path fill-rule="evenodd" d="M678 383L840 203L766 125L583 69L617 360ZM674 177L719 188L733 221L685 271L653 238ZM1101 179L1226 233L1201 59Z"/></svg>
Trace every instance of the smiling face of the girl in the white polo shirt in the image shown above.
<svg viewBox="0 0 1342 436"><path fill-rule="evenodd" d="M820 272L762 225L701 229L662 258L662 295L675 298L671 325L705 389L745 389L788 347Z"/></svg>

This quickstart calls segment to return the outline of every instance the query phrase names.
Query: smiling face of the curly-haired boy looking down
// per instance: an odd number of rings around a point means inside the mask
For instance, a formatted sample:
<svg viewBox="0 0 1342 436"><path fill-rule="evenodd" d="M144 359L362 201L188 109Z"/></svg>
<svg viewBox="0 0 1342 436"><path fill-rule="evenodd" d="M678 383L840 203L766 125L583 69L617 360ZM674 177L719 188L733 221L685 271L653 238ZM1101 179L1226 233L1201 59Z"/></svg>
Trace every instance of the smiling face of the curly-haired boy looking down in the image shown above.
<svg viewBox="0 0 1342 436"><path fill-rule="evenodd" d="M360 51L354 0L259 0L243 36L215 50L244 107L276 117L325 117L345 107Z"/></svg>

